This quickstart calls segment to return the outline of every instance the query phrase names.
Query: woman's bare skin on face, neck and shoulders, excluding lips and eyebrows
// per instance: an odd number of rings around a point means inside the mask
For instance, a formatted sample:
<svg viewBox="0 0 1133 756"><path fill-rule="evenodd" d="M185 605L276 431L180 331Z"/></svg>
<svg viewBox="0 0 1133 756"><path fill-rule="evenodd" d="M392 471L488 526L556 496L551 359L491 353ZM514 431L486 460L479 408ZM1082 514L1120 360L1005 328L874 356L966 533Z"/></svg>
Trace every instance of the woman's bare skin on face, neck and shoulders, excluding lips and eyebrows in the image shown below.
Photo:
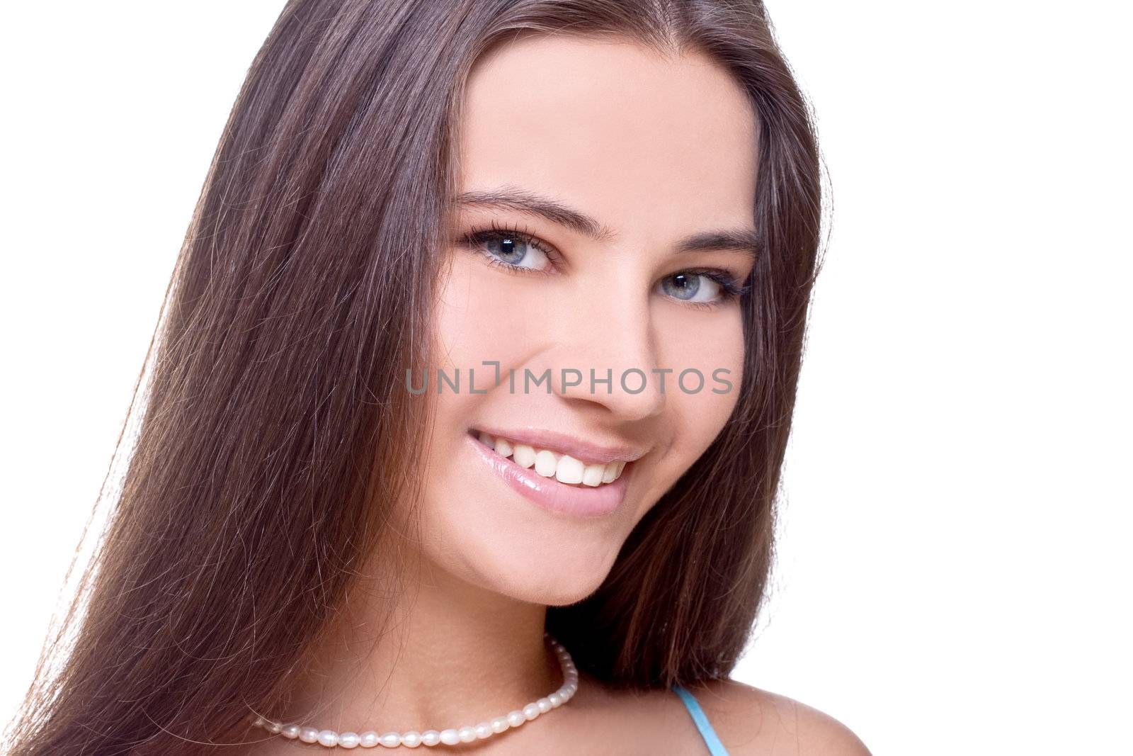
<svg viewBox="0 0 1133 756"><path fill-rule="evenodd" d="M410 566L410 585L399 594L375 558L296 686L292 712L318 711L304 723L321 728L381 733L476 724L557 688L557 664L543 642L546 606L579 601L602 584L630 530L734 407L734 389L714 393L709 383L685 393L673 375L725 368L734 388L742 377L738 301L717 301L710 279L675 278L712 269L742 282L753 265L743 252L675 249L693 233L752 229L758 124L729 74L708 58L668 60L630 41L531 36L482 58L467 95L460 190L548 197L591 216L604 233L517 210L454 209L435 311L441 366L467 373L499 360L504 374L520 375L550 367L554 390L511 393L506 382L493 387L485 368L476 385L486 393L435 397L415 513L421 527L397 528L382 550ZM467 240L493 223L533 243ZM562 367L674 372L664 393L656 381L631 393L617 380L611 393L591 393L586 384L564 390ZM475 455L466 435L483 425L550 428L648 451L615 512L565 517L506 487ZM370 602L391 597L398 625L378 636ZM868 755L844 725L790 698L732 681L690 689L735 756ZM253 750L301 748L318 747L269 737ZM568 705L459 750L707 753L674 694L617 693L585 673Z"/></svg>

